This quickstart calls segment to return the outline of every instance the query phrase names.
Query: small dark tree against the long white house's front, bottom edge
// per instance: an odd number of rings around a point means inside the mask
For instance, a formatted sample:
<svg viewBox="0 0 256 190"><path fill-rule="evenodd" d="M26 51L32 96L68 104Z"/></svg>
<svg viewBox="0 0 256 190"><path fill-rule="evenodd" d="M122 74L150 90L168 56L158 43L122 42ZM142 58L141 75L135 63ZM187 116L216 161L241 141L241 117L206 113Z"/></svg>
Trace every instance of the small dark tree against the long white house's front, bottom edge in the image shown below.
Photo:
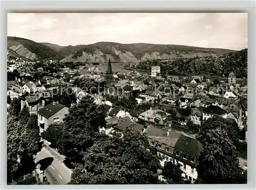
<svg viewBox="0 0 256 190"><path fill-rule="evenodd" d="M162 175L165 177L169 184L182 183L184 178L181 176L183 174L180 164L173 164L172 161L165 161Z"/></svg>

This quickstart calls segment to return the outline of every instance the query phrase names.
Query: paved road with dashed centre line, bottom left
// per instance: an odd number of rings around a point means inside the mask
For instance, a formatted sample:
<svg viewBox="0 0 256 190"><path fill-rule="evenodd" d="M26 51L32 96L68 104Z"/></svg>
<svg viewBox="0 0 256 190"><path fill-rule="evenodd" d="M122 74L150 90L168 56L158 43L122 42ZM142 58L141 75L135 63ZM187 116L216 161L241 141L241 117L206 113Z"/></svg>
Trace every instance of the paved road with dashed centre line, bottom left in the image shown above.
<svg viewBox="0 0 256 190"><path fill-rule="evenodd" d="M53 155L49 147L43 147L35 156L35 162L39 160L53 158L51 164L45 169L45 176L50 184L67 184L70 182L72 171L67 168L62 160Z"/></svg>

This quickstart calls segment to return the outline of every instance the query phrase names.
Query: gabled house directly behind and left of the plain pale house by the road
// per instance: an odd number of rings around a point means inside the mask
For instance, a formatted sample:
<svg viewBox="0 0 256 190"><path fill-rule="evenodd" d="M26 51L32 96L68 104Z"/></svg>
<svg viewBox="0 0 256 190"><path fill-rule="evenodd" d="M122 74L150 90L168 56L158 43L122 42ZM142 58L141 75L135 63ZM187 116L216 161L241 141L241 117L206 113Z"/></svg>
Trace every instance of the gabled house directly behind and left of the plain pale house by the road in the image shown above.
<svg viewBox="0 0 256 190"><path fill-rule="evenodd" d="M24 96L20 96L21 99L21 110L26 104L29 108L29 114L35 114L37 115L37 112L45 107L47 104L49 104L51 100L51 94L50 92L42 92L40 94L36 95L30 95L27 96L26 94Z"/></svg>

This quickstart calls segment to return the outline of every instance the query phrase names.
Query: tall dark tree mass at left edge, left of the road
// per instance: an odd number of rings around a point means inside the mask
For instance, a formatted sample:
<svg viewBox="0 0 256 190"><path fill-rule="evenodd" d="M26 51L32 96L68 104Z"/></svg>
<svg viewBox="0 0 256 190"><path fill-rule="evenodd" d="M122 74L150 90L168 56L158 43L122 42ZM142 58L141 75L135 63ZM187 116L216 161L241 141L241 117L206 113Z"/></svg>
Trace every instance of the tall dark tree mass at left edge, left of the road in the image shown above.
<svg viewBox="0 0 256 190"><path fill-rule="evenodd" d="M8 181L33 171L33 156L41 149L37 116L27 118L26 115L21 120L12 115L7 118Z"/></svg>

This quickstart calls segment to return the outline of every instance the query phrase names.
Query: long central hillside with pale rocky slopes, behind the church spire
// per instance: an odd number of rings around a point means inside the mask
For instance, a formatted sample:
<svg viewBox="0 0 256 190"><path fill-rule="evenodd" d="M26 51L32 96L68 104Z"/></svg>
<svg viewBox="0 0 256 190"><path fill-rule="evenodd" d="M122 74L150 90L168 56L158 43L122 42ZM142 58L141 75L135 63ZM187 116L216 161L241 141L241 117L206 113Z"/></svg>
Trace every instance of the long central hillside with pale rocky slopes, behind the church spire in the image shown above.
<svg viewBox="0 0 256 190"><path fill-rule="evenodd" d="M115 42L98 42L85 46L62 59L62 62L106 63L109 59L113 63L139 63L140 61L157 59L185 59L208 57L234 52L228 49L191 47L185 45L162 44L120 44Z"/></svg>

